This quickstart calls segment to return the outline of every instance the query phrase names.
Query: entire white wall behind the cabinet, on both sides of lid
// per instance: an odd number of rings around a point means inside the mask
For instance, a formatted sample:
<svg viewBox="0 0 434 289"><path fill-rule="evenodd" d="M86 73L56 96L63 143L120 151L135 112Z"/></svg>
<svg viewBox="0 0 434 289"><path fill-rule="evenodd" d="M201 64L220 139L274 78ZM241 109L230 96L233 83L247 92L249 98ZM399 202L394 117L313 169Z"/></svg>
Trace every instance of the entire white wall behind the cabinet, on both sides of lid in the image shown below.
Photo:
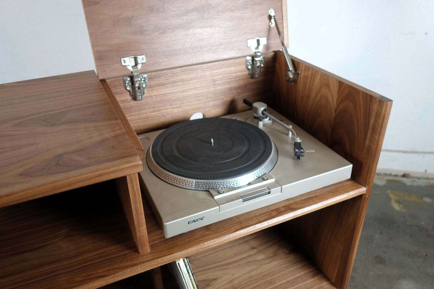
<svg viewBox="0 0 434 289"><path fill-rule="evenodd" d="M432 15L434 1L288 0L289 53L394 100L379 168L434 173ZM0 63L0 83L95 70L81 1L0 0Z"/></svg>

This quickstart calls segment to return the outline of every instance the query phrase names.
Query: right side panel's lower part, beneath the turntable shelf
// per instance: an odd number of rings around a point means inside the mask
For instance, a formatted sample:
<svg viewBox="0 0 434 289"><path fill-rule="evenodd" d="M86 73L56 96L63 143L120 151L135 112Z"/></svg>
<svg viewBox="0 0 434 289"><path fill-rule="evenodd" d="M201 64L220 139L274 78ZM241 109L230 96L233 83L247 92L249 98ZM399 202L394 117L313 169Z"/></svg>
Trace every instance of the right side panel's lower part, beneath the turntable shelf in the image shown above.
<svg viewBox="0 0 434 289"><path fill-rule="evenodd" d="M347 288L362 231L367 194L290 220L286 228L338 288Z"/></svg>

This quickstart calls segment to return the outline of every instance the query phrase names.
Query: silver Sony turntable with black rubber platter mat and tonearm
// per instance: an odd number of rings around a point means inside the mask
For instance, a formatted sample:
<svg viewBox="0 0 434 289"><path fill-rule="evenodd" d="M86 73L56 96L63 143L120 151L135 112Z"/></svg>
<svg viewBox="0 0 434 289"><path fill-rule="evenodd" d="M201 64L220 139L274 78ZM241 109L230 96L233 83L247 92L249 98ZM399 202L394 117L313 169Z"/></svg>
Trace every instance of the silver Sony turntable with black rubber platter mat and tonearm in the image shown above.
<svg viewBox="0 0 434 289"><path fill-rule="evenodd" d="M351 176L352 164L320 141L263 102L244 102L253 114L138 136L147 150L140 177L166 238Z"/></svg>

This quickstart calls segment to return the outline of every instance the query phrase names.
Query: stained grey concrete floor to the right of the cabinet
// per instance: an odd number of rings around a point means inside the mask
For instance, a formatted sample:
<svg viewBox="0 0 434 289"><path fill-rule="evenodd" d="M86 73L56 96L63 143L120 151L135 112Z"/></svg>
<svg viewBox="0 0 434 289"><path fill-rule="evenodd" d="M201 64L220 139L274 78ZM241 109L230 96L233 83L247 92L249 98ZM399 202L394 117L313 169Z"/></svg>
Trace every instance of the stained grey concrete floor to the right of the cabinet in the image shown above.
<svg viewBox="0 0 434 289"><path fill-rule="evenodd" d="M434 288L433 223L433 180L378 175L348 288Z"/></svg>

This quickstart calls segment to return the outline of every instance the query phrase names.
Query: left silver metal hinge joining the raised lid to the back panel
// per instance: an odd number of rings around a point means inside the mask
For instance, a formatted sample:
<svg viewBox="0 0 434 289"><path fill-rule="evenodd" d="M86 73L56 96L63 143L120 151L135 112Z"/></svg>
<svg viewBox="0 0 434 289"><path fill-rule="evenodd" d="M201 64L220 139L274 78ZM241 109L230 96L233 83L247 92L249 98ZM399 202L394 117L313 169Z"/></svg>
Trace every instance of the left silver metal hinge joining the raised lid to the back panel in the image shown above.
<svg viewBox="0 0 434 289"><path fill-rule="evenodd" d="M126 66L133 73L133 76L124 77L124 88L134 100L141 100L148 86L148 75L138 71L145 62L145 55L121 57L122 66Z"/></svg>

